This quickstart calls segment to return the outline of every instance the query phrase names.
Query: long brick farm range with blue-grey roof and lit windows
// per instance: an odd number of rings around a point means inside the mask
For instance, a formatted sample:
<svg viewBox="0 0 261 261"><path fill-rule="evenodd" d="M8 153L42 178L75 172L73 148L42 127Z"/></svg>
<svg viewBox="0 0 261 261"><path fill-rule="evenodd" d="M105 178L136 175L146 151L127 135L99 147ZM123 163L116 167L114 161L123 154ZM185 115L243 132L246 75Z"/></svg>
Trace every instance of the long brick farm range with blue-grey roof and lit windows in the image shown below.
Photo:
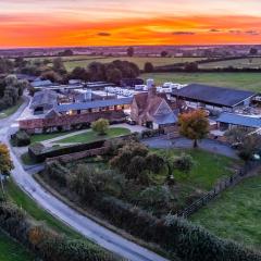
<svg viewBox="0 0 261 261"><path fill-rule="evenodd" d="M129 108L130 102L132 98L123 98L54 104L45 115L21 120L20 129L28 133L78 129L101 117L111 123L122 122L126 117L124 110Z"/></svg>

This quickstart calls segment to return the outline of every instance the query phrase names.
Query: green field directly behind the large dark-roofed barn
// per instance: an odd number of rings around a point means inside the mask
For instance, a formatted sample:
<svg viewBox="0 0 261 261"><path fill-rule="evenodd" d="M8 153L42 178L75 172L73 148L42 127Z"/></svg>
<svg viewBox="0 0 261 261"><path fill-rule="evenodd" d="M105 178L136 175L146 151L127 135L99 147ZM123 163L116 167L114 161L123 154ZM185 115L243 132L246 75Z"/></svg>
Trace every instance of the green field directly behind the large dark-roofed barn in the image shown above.
<svg viewBox="0 0 261 261"><path fill-rule="evenodd" d="M156 84L173 82L179 84L207 84L235 89L261 91L260 73L150 73L144 79L154 78Z"/></svg>

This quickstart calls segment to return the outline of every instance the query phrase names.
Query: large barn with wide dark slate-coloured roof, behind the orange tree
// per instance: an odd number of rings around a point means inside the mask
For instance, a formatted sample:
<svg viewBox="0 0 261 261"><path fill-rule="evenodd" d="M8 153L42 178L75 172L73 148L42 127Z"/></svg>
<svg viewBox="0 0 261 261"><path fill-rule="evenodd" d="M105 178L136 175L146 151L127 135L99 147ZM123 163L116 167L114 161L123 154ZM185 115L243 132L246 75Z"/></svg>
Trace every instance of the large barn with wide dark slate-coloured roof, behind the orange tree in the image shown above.
<svg viewBox="0 0 261 261"><path fill-rule="evenodd" d="M188 107L229 112L250 105L256 96L252 91L200 84L190 84L172 92L172 97L185 100Z"/></svg>

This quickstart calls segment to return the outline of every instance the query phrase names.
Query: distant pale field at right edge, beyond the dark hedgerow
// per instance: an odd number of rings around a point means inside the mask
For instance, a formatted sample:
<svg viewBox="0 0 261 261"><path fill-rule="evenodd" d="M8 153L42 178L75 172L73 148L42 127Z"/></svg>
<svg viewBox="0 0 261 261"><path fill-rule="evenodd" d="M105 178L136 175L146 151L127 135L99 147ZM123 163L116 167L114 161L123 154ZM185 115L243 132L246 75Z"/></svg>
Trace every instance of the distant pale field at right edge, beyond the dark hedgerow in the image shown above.
<svg viewBox="0 0 261 261"><path fill-rule="evenodd" d="M261 58L243 58L235 59L228 61L220 61L220 62L209 62L199 64L200 69L223 69L223 67L237 67L237 69L260 69L261 67Z"/></svg>

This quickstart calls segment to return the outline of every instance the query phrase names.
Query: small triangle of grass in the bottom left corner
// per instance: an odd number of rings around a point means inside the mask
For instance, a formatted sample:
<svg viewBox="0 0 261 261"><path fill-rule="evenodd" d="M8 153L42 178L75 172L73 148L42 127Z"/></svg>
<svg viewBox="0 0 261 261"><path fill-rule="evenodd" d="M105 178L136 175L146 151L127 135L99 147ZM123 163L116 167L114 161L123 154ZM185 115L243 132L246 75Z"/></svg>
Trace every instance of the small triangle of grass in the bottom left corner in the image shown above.
<svg viewBox="0 0 261 261"><path fill-rule="evenodd" d="M0 229L1 261L33 261L33 254Z"/></svg>

